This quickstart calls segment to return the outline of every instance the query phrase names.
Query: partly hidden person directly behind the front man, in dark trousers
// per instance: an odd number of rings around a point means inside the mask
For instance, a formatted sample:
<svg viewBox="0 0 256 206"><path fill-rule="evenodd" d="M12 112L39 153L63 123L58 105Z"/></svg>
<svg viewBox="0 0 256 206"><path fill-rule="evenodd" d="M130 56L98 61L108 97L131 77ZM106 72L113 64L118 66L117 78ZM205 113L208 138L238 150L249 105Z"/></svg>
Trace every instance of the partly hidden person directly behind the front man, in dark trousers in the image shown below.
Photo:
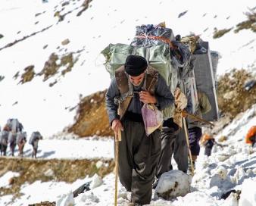
<svg viewBox="0 0 256 206"><path fill-rule="evenodd" d="M158 162L156 180L153 185L158 185L158 179L165 172L173 170L172 156L175 159L178 169L186 173L188 146L186 145L186 136L182 118L186 115L182 111L190 110L191 103L188 102L186 95L181 92L179 86L174 92L175 108L173 117L164 120L161 131L161 157Z"/></svg>

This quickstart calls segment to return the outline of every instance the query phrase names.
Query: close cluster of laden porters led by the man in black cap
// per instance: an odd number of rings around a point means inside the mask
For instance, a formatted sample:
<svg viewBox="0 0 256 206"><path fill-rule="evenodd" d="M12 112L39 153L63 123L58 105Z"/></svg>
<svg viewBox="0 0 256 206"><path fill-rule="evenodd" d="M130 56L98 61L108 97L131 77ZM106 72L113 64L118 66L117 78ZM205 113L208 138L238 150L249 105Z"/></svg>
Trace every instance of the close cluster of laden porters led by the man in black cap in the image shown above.
<svg viewBox="0 0 256 206"><path fill-rule="evenodd" d="M110 44L101 54L111 74L106 107L116 175L132 194L130 205L149 204L158 179L173 169L172 156L179 170L194 173L201 128L218 118L219 54L164 23L138 26L130 45Z"/></svg>

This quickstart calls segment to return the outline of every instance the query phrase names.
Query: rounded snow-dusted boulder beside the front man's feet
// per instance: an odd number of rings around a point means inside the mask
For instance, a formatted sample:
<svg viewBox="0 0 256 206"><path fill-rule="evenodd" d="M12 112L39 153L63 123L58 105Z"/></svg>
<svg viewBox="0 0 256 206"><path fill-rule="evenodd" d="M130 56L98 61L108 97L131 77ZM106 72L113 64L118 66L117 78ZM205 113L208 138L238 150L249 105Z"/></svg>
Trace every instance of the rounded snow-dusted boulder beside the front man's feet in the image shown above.
<svg viewBox="0 0 256 206"><path fill-rule="evenodd" d="M155 197L171 200L186 195L189 189L189 176L180 170L170 170L161 175L158 186L155 188Z"/></svg>

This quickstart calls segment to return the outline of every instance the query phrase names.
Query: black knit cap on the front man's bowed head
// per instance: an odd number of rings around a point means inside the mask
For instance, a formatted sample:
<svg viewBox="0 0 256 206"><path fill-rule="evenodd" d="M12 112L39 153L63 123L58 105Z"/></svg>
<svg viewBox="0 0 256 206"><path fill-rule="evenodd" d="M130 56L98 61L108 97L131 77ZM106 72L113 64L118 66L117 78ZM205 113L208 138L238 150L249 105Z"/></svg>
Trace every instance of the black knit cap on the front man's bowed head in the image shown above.
<svg viewBox="0 0 256 206"><path fill-rule="evenodd" d="M148 67L148 63L142 56L129 55L124 64L124 70L130 76L139 76Z"/></svg>

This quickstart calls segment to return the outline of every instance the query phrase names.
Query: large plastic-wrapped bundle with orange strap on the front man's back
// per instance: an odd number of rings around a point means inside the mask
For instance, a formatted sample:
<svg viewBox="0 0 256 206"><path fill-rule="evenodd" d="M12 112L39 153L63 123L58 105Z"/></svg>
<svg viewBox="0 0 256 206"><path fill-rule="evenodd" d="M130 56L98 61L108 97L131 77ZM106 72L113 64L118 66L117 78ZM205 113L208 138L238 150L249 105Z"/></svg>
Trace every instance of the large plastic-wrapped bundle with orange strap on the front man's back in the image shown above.
<svg viewBox="0 0 256 206"><path fill-rule="evenodd" d="M176 86L179 86L183 93L189 96L192 109L190 112L195 111L197 95L195 86L192 86L195 84L195 76L189 47L175 41L173 31L163 24L138 26L130 45L110 44L101 53L106 58L105 67L111 76L125 63L128 55L144 57L148 64L164 77L172 93ZM194 99L194 102L191 99ZM163 111L164 119L173 117L173 109L170 107Z"/></svg>

